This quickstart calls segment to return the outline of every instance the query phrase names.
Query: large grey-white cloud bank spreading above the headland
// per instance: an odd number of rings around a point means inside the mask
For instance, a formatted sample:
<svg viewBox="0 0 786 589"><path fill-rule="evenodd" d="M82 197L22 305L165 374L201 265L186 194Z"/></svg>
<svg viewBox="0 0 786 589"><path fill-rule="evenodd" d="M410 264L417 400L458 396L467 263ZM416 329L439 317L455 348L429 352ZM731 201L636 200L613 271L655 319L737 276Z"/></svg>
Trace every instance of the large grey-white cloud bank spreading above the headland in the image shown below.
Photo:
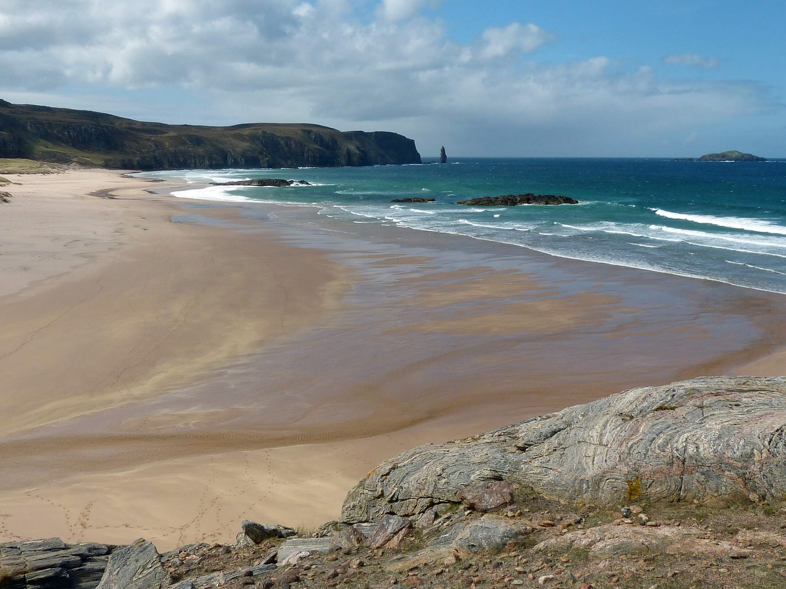
<svg viewBox="0 0 786 589"><path fill-rule="evenodd" d="M427 154L444 143L467 155L623 155L652 137L683 143L703 125L778 108L755 82L668 79L604 56L538 59L558 42L538 24L502 24L456 42L424 16L433 7L116 0L110 10L103 0L4 0L0 96L61 96L75 106L77 88L111 96L82 108L138 114L131 96L160 89L161 101L189 97L167 122L386 129L414 137ZM707 68L712 59L664 61Z"/></svg>

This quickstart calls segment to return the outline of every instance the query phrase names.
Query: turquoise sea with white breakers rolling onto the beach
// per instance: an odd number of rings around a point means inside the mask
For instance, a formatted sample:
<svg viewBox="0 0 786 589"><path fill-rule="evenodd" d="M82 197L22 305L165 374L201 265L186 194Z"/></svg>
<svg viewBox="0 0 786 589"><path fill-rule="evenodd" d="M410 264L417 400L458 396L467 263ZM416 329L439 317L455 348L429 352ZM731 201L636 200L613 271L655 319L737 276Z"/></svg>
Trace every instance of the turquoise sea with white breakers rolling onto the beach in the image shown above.
<svg viewBox="0 0 786 589"><path fill-rule="evenodd" d="M428 160L430 158L425 158ZM315 207L354 223L399 225L511 243L564 258L720 280L786 293L786 161L453 159L446 165L299 170L184 170L189 183L252 177L291 188L208 187L189 198ZM560 194L578 205L465 207L460 199ZM435 203L391 199L433 197Z"/></svg>

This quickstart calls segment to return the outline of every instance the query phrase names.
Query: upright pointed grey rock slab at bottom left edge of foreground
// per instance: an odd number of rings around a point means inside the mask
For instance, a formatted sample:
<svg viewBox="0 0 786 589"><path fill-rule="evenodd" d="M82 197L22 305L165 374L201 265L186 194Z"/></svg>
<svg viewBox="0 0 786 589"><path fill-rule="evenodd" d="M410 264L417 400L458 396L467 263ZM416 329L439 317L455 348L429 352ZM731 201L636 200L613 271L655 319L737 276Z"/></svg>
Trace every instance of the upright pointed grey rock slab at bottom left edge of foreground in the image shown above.
<svg viewBox="0 0 786 589"><path fill-rule="evenodd" d="M169 584L171 578L156 547L140 538L112 552L97 589L152 589Z"/></svg>

